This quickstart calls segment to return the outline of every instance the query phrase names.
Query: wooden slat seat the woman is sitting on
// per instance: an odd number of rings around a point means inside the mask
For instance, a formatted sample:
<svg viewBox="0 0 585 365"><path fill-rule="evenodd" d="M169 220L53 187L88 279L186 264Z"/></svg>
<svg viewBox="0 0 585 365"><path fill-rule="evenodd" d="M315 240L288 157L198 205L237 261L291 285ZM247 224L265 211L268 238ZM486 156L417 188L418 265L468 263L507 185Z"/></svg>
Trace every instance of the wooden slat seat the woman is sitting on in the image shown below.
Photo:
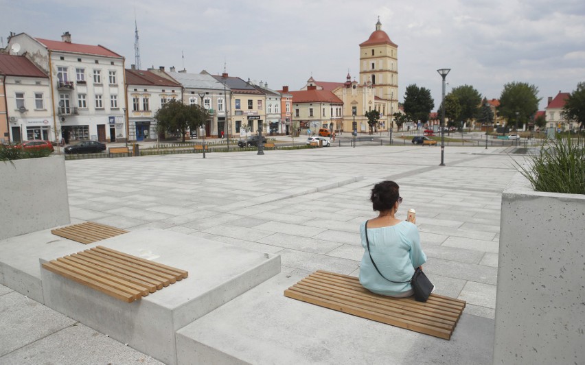
<svg viewBox="0 0 585 365"><path fill-rule="evenodd" d="M366 290L358 278L318 270L284 295L354 316L449 340L465 301L431 294L426 303L413 297L391 298Z"/></svg>

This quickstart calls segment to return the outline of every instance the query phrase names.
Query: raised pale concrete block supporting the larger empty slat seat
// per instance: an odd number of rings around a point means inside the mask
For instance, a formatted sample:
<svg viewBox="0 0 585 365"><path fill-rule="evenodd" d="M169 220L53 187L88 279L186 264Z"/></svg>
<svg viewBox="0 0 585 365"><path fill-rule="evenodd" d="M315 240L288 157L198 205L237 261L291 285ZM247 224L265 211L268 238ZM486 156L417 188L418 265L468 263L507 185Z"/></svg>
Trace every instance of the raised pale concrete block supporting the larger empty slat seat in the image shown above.
<svg viewBox="0 0 585 365"><path fill-rule="evenodd" d="M187 270L189 276L124 303L41 270L45 305L165 364L176 364L178 329L280 272L280 256L155 228L97 244Z"/></svg>

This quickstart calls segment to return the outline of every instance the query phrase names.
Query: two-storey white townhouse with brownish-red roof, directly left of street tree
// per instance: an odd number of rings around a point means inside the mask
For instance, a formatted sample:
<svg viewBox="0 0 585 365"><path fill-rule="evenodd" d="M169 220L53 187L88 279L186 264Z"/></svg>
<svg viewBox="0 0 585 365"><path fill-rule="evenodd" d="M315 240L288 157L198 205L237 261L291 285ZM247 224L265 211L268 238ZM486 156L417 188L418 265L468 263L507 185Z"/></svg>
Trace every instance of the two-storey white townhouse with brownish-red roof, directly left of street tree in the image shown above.
<svg viewBox="0 0 585 365"><path fill-rule="evenodd" d="M128 95L128 136L130 141L157 139L157 120L154 114L170 99L181 98L181 84L157 73L126 69Z"/></svg>

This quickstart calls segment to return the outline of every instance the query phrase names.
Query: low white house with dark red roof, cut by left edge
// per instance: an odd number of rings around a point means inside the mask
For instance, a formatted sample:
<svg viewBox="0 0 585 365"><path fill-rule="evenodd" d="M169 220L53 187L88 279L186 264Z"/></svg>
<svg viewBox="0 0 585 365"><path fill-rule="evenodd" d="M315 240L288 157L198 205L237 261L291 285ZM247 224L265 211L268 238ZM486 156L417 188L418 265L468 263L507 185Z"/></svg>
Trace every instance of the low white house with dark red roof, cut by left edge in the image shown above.
<svg viewBox="0 0 585 365"><path fill-rule="evenodd" d="M0 141L55 140L49 77L23 56L0 54Z"/></svg>

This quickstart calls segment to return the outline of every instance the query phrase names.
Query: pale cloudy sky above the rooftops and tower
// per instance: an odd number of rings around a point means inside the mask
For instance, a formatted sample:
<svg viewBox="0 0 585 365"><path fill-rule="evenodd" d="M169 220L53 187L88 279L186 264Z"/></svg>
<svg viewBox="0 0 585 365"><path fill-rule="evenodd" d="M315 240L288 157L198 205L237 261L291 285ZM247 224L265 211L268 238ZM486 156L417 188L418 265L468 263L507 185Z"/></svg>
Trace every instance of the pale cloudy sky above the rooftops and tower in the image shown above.
<svg viewBox="0 0 585 365"><path fill-rule="evenodd" d="M127 67L135 63L136 14L143 69L221 73L225 63L229 75L291 90L311 75L358 76L358 45L380 16L398 45L400 102L417 84L431 89L435 109L440 68L451 69L447 93L468 84L491 99L507 82L528 82L541 109L585 81L583 0L0 0L0 14L4 46L10 32L60 40L68 31L73 43L126 57Z"/></svg>

